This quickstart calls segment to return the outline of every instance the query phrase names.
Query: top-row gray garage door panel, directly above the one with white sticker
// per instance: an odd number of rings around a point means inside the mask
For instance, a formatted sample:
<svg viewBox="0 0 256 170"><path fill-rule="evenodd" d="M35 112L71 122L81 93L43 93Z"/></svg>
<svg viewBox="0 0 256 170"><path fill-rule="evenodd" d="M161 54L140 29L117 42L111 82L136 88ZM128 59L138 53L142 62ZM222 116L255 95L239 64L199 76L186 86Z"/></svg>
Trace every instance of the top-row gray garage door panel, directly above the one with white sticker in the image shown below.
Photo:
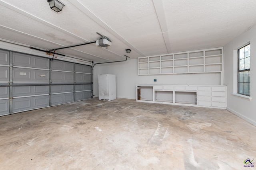
<svg viewBox="0 0 256 170"><path fill-rule="evenodd" d="M12 64L14 66L49 69L49 59L47 58L25 55L20 53L13 53L12 61Z"/></svg>

